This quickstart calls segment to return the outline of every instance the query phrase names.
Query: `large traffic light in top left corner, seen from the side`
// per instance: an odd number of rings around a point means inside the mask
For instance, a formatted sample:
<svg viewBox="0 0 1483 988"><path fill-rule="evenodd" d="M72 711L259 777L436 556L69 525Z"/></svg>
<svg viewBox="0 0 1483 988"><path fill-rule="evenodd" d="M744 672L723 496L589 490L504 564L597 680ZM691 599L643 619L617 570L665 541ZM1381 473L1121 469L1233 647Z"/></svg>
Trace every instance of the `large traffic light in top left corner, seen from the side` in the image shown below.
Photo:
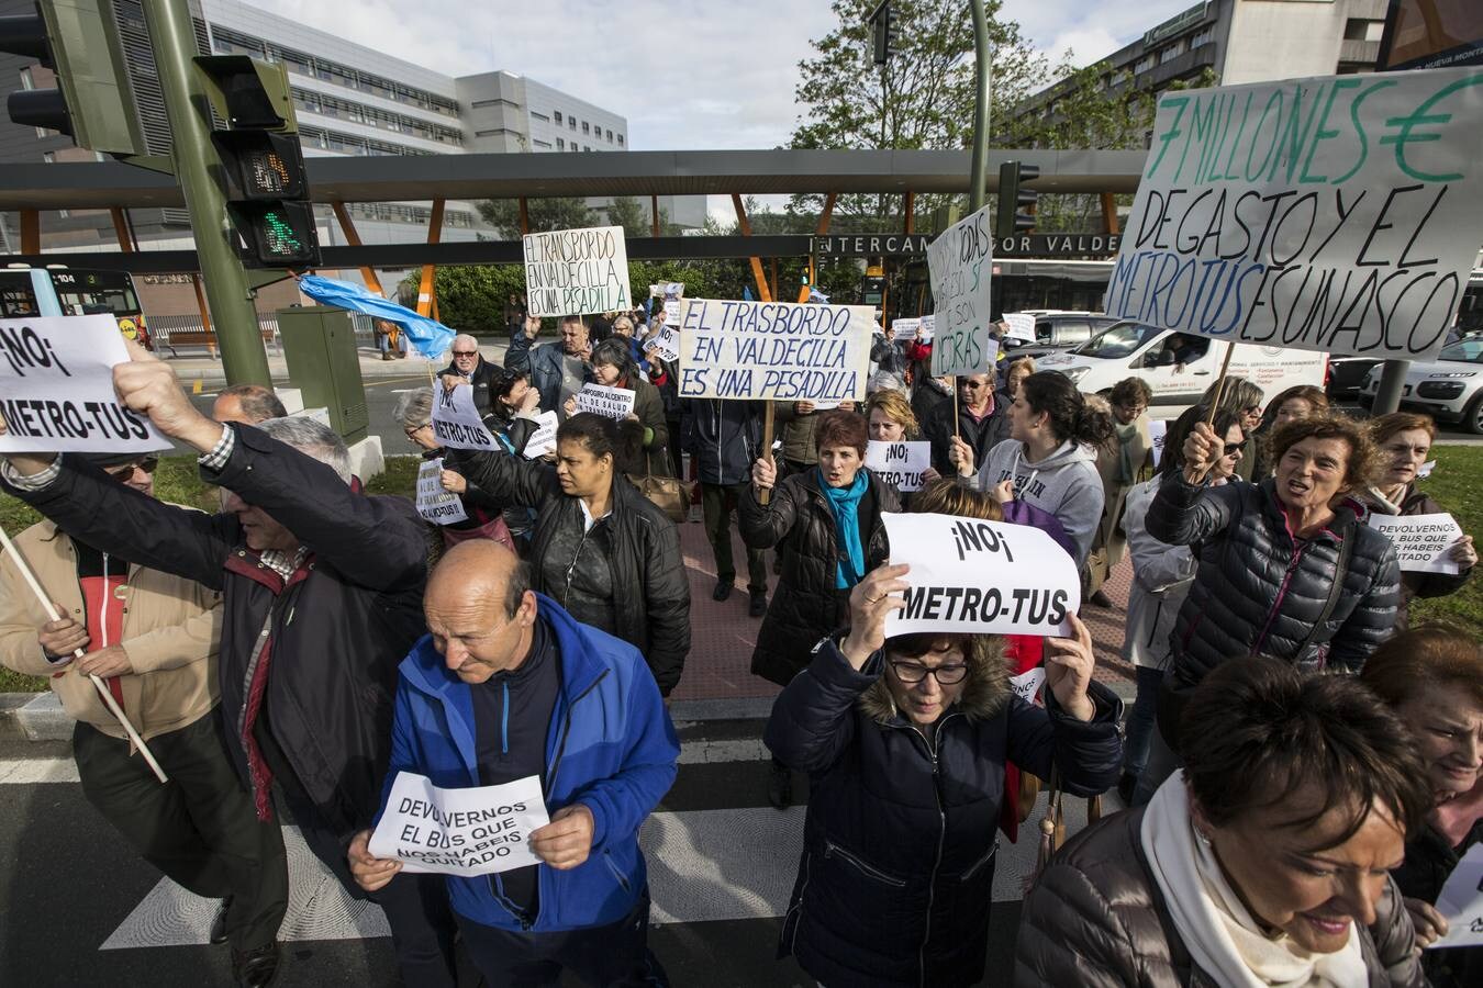
<svg viewBox="0 0 1483 988"><path fill-rule="evenodd" d="M144 154L144 130L110 0L47 0L36 13L0 18L0 52L37 59L56 89L21 89L10 120L58 130L80 148Z"/></svg>

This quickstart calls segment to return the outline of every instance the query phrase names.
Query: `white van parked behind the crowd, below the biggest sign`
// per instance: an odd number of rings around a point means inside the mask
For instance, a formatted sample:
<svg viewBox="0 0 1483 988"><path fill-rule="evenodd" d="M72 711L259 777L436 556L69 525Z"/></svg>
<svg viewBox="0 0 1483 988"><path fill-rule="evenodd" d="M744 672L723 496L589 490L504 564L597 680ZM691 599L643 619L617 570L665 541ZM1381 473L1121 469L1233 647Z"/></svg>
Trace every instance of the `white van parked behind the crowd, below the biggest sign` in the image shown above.
<svg viewBox="0 0 1483 988"><path fill-rule="evenodd" d="M1086 394L1106 394L1124 378L1142 378L1155 404L1189 404L1221 376L1228 347L1209 336L1121 321L1080 347L1037 358L1035 369L1059 370ZM1321 388L1327 361L1329 354L1311 350L1235 344L1229 373L1275 395L1299 384Z"/></svg>

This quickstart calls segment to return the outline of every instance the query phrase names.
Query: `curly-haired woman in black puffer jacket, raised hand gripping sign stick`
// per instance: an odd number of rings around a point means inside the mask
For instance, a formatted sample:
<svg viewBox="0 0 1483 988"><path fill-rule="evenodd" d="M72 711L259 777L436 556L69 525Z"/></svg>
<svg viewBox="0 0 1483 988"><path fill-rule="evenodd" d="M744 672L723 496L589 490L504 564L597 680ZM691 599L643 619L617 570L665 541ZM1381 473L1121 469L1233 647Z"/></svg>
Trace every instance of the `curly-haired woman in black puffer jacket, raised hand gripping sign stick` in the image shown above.
<svg viewBox="0 0 1483 988"><path fill-rule="evenodd" d="M1183 698L1213 668L1268 655L1302 670L1358 672L1394 625L1396 550L1364 524L1364 507L1348 496L1364 490L1373 471L1369 437L1352 419L1321 415L1281 427L1271 449L1274 477L1206 486L1225 444L1201 422L1185 440L1183 473L1164 480L1148 510L1155 539L1201 548L1169 641L1160 738L1134 803L1178 767L1166 741L1175 736Z"/></svg>

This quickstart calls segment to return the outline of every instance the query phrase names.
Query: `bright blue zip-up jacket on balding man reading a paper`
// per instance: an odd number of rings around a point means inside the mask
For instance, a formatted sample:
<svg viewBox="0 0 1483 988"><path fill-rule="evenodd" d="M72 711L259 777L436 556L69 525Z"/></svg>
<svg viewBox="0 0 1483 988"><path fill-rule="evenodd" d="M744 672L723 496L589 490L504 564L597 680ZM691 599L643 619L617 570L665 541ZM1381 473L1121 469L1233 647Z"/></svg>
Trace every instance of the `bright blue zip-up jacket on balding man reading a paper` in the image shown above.
<svg viewBox="0 0 1483 988"><path fill-rule="evenodd" d="M537 600L562 678L546 735L546 809L583 803L592 810L592 852L569 871L538 865L540 911L531 926L495 898L494 875L449 877L448 896L475 923L550 933L617 923L638 904L648 881L639 825L675 781L679 741L638 649L578 624L550 597ZM402 661L383 812L402 769L440 788L479 785L473 696L432 635Z"/></svg>

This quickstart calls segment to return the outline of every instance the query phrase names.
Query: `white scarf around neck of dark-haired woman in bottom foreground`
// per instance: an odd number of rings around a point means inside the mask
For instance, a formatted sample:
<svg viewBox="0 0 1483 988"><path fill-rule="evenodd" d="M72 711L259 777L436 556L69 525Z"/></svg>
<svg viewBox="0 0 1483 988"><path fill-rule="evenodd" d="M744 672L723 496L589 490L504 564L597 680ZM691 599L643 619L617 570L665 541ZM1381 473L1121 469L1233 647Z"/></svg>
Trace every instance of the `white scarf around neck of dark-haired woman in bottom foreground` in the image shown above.
<svg viewBox="0 0 1483 988"><path fill-rule="evenodd" d="M1140 832L1149 871L1195 964L1226 988L1352 988L1369 984L1360 938L1335 954L1309 954L1286 935L1268 938L1195 837L1185 773L1158 788Z"/></svg>

